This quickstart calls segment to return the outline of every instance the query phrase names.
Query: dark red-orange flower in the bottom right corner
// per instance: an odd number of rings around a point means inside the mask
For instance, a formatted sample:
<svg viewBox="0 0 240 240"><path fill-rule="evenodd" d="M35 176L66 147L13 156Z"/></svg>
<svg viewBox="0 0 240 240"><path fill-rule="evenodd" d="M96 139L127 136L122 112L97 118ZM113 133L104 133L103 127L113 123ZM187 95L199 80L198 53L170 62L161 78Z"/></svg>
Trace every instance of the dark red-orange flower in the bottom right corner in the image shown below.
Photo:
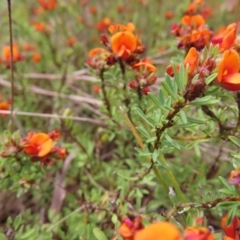
<svg viewBox="0 0 240 240"><path fill-rule="evenodd" d="M226 234L226 237L228 237L228 239L235 239L235 240L239 240L240 239L240 231L238 230L239 226L240 226L240 219L238 219L236 216L233 218L231 224L229 226L226 225L227 222L227 218L228 215L225 215L222 218L222 229ZM227 238L225 238L227 239Z"/></svg>

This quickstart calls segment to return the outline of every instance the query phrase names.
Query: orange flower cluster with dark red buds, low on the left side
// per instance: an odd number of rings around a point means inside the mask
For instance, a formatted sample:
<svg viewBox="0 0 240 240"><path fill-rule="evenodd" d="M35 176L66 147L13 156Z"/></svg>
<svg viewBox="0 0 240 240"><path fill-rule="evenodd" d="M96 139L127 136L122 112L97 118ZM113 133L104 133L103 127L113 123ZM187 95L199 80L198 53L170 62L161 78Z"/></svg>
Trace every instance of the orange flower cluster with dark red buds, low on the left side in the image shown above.
<svg viewBox="0 0 240 240"><path fill-rule="evenodd" d="M60 138L60 132L54 130L48 134L29 132L25 138L18 141L7 140L2 157L14 154L25 154L32 162L40 162L41 165L51 165L54 160L63 160L66 157L66 149L55 146L54 143Z"/></svg>

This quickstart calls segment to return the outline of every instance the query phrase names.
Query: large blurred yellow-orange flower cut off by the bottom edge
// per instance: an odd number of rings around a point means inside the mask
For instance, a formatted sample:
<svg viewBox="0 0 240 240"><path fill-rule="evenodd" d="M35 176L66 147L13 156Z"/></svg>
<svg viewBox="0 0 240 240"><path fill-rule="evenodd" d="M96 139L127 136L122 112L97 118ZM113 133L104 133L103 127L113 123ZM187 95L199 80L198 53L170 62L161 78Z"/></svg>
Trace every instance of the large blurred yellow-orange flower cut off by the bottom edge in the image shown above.
<svg viewBox="0 0 240 240"><path fill-rule="evenodd" d="M139 230L134 240L181 240L179 230L169 222L157 222Z"/></svg>

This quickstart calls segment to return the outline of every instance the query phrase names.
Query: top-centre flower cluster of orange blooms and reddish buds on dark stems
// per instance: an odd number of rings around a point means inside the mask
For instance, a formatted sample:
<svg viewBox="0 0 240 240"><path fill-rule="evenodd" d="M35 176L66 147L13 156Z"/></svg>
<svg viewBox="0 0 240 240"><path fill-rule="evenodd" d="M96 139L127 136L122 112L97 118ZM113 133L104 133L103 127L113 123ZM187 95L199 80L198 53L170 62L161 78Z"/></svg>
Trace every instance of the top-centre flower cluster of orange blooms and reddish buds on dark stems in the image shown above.
<svg viewBox="0 0 240 240"><path fill-rule="evenodd" d="M134 33L133 23L127 25L115 24L108 27L111 36L101 35L101 42L106 47L94 48L88 54L87 65L96 72L105 70L112 65L119 64L121 68L129 67L134 71L135 78L129 82L131 89L135 89L139 96L147 94L149 86L154 84L156 67L148 59L139 59L145 47L140 38Z"/></svg>

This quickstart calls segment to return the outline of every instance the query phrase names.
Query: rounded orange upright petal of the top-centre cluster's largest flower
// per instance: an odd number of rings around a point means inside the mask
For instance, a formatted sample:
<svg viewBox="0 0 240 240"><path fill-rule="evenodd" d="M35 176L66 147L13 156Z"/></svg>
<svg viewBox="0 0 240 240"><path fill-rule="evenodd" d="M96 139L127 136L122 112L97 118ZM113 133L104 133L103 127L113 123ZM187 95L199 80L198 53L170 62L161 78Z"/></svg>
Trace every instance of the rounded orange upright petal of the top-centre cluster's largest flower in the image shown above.
<svg viewBox="0 0 240 240"><path fill-rule="evenodd" d="M137 38L132 32L124 31L114 34L111 38L112 51L116 54L122 47L133 52L137 48Z"/></svg>

